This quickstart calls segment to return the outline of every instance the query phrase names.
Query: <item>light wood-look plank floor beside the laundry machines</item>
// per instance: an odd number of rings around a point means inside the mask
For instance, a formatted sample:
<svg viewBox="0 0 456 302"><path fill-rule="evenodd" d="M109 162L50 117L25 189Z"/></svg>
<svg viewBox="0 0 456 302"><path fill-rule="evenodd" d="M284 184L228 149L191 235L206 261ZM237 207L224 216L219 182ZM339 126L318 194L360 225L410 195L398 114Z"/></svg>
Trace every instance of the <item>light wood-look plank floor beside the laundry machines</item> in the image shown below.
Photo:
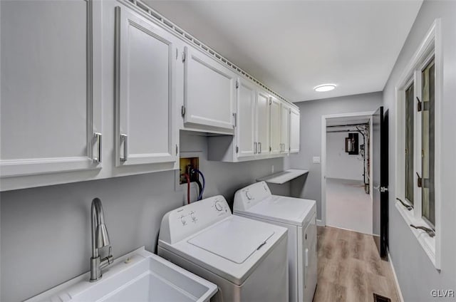
<svg viewBox="0 0 456 302"><path fill-rule="evenodd" d="M314 302L371 302L373 293L400 302L393 271L373 236L318 227L318 285Z"/></svg>

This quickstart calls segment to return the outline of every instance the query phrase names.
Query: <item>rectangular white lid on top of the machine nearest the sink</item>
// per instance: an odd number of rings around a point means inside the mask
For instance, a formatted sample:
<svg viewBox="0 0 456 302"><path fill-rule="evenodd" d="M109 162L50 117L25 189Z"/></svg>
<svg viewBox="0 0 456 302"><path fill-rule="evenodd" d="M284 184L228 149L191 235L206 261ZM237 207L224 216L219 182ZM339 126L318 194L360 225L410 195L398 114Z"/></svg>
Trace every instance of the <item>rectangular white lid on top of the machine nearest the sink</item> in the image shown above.
<svg viewBox="0 0 456 302"><path fill-rule="evenodd" d="M266 244L272 235L273 230L249 222L248 219L227 219L187 242L236 264L242 264L254 251Z"/></svg>

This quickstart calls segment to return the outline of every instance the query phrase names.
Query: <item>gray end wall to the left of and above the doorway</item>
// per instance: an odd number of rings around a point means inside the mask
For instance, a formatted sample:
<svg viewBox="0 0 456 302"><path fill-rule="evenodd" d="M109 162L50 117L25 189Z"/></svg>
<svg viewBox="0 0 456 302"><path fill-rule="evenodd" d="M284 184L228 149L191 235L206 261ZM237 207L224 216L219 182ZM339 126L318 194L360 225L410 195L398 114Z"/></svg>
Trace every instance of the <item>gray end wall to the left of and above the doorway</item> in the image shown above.
<svg viewBox="0 0 456 302"><path fill-rule="evenodd" d="M299 196L316 200L317 219L321 219L321 165L312 157L321 157L321 116L374 111L382 105L382 93L348 95L340 98L296 103L301 110L301 151L290 155L287 167L309 170Z"/></svg>

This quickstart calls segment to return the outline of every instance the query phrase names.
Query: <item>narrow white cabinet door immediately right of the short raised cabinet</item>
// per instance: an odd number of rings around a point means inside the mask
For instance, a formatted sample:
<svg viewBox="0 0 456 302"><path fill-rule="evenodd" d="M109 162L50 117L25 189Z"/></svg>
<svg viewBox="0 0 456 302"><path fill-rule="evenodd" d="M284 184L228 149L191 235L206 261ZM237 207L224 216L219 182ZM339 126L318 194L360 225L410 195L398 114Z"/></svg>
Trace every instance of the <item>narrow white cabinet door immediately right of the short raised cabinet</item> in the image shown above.
<svg viewBox="0 0 456 302"><path fill-rule="evenodd" d="M257 152L255 139L255 88L247 80L237 85L237 157L253 156Z"/></svg>

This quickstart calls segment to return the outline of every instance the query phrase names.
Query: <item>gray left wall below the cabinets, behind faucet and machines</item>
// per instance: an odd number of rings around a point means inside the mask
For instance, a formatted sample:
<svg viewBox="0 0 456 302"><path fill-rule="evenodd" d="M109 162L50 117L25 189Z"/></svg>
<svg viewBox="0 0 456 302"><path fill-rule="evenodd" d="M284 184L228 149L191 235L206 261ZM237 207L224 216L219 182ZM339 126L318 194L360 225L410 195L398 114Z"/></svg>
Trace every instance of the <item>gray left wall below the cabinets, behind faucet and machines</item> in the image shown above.
<svg viewBox="0 0 456 302"><path fill-rule="evenodd" d="M204 197L223 194L232 201L238 188L269 175L271 165L284 168L282 158L208 162L206 137L181 132L180 139L182 152L200 155ZM2 192L0 301L24 300L88 271L94 197L103 202L115 257L139 246L155 251L163 214L184 200L174 179L170 171Z"/></svg>

